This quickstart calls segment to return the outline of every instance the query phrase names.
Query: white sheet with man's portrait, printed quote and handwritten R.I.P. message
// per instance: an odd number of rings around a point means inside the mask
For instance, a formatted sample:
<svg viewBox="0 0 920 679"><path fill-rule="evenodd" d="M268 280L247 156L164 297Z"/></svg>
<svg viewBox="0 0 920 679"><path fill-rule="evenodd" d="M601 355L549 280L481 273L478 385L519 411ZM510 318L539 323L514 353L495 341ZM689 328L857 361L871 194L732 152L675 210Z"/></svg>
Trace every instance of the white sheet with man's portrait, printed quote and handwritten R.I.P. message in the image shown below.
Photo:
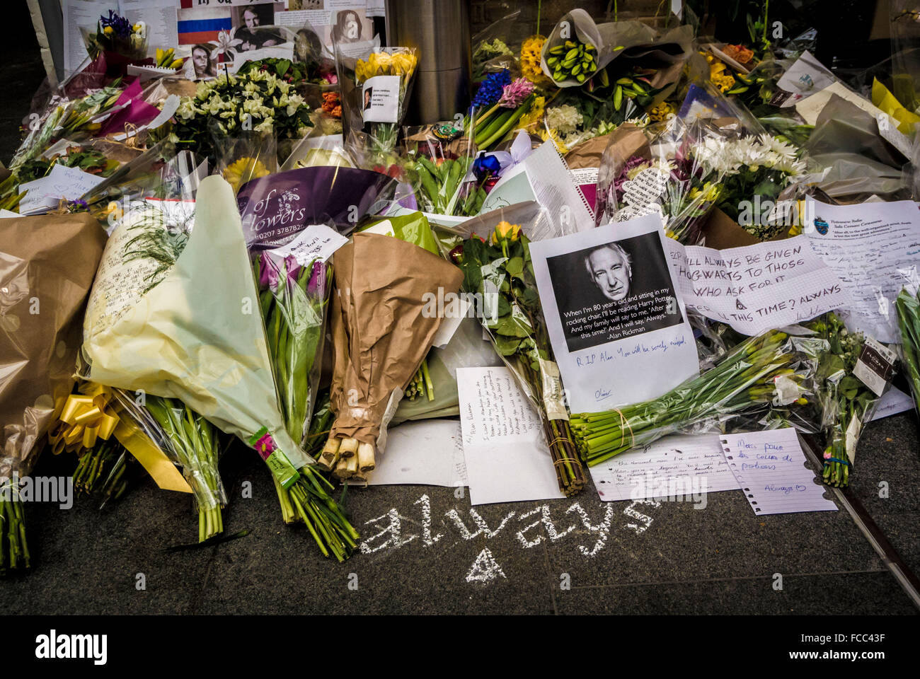
<svg viewBox="0 0 920 679"><path fill-rule="evenodd" d="M648 215L530 244L572 412L659 397L698 372L664 239Z"/></svg>

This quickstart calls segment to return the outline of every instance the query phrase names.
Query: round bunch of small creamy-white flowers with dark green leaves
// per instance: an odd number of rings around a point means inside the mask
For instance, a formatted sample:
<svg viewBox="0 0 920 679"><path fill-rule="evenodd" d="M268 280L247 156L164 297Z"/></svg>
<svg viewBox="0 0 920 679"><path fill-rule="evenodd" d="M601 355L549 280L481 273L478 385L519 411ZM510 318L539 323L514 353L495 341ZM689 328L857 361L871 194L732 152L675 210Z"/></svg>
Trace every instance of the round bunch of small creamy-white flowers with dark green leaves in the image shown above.
<svg viewBox="0 0 920 679"><path fill-rule="evenodd" d="M194 97L183 97L171 134L179 150L214 158L214 121L222 134L272 133L277 141L305 136L313 123L310 109L293 85L270 71L218 75L199 83Z"/></svg>

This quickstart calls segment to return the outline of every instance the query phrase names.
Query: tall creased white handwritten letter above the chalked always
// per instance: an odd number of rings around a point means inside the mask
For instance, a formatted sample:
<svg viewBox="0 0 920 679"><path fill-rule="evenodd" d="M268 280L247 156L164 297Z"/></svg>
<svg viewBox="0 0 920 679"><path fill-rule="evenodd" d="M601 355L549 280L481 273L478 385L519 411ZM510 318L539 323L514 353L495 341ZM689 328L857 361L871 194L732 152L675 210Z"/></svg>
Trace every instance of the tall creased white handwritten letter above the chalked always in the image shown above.
<svg viewBox="0 0 920 679"><path fill-rule="evenodd" d="M565 497L540 416L508 368L459 368L457 392L470 503Z"/></svg>

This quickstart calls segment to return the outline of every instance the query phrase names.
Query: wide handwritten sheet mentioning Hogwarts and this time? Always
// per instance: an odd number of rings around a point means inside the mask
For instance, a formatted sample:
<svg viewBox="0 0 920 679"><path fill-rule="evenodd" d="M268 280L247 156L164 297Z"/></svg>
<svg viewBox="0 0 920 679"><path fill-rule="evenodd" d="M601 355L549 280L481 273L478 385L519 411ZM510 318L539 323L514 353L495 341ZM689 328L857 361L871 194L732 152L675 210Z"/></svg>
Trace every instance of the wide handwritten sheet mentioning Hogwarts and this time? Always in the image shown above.
<svg viewBox="0 0 920 679"><path fill-rule="evenodd" d="M836 272L806 236L717 250L665 239L688 308L758 335L848 305Z"/></svg>

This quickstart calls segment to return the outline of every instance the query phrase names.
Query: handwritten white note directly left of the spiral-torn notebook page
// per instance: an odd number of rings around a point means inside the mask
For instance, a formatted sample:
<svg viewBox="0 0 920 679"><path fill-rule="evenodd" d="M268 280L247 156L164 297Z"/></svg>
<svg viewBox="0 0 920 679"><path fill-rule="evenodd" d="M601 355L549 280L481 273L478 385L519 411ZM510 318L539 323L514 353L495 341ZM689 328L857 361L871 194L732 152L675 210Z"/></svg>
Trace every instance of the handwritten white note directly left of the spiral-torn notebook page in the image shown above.
<svg viewBox="0 0 920 679"><path fill-rule="evenodd" d="M590 471L604 501L680 498L699 504L707 492L741 488L722 454L719 434L665 436Z"/></svg>

